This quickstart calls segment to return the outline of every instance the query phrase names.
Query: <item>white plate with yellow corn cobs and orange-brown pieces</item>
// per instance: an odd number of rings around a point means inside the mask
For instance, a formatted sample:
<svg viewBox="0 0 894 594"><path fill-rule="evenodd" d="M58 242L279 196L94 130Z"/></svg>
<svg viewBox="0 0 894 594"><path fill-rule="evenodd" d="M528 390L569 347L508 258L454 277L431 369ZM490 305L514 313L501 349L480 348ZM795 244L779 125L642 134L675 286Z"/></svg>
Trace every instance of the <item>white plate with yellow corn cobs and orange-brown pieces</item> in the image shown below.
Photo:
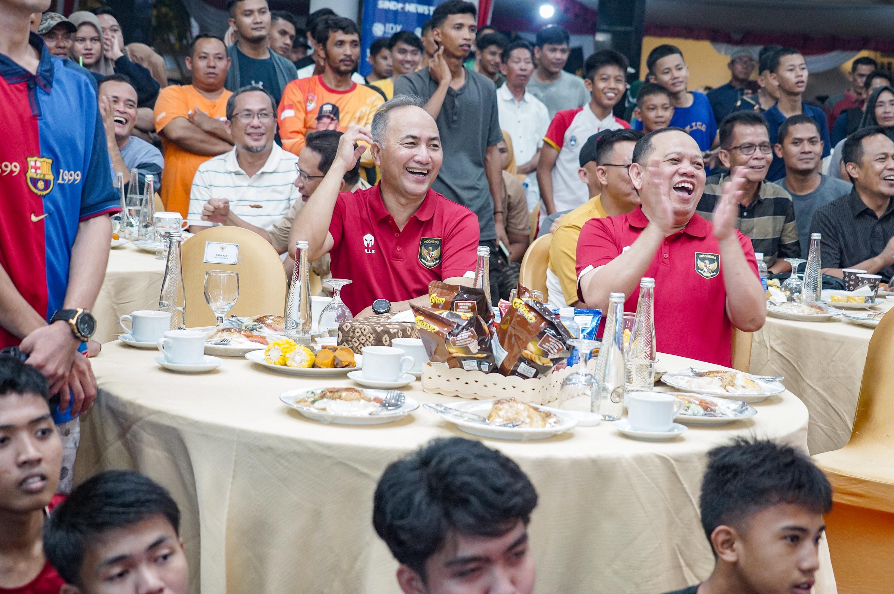
<svg viewBox="0 0 894 594"><path fill-rule="evenodd" d="M334 351L322 348L314 352L289 339L275 340L264 350L246 353L245 358L274 372L308 377L345 375L363 365L363 356L356 355L350 348L341 347Z"/></svg>

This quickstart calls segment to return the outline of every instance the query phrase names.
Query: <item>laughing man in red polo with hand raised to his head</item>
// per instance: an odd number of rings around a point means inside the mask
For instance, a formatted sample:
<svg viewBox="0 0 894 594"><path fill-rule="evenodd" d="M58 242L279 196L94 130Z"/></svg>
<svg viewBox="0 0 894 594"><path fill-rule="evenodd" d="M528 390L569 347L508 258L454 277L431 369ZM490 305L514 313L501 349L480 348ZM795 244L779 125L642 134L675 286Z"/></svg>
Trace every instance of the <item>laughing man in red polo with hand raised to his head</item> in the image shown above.
<svg viewBox="0 0 894 594"><path fill-rule="evenodd" d="M371 133L351 125L292 226L291 245L310 242L310 261L328 252L333 278L354 281L342 300L355 317L373 314L380 298L391 302L392 312L409 309L410 302L429 305L432 280L472 284L477 217L431 189L443 152L424 106L419 97L399 96L379 107ZM382 180L340 194L342 177L363 152L364 146L355 148L358 141L371 146Z"/></svg>

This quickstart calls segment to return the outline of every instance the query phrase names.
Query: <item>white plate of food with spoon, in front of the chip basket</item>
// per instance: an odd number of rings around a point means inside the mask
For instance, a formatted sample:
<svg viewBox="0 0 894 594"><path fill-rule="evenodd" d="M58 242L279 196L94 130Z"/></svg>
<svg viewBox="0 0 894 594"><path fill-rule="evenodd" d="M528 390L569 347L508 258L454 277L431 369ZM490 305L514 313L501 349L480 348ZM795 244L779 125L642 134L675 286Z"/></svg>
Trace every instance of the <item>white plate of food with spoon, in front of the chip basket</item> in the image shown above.
<svg viewBox="0 0 894 594"><path fill-rule="evenodd" d="M452 422L459 427L460 431L483 438L519 439L522 441L545 439L565 431L571 431L578 424L578 420L573 414L568 414L558 408L528 405L515 398L476 400L460 402L449 407L443 405L437 407L436 410L434 406L426 405L426 408L444 421ZM465 413L484 417L485 420L471 416L467 418ZM503 426L514 423L520 424Z"/></svg>

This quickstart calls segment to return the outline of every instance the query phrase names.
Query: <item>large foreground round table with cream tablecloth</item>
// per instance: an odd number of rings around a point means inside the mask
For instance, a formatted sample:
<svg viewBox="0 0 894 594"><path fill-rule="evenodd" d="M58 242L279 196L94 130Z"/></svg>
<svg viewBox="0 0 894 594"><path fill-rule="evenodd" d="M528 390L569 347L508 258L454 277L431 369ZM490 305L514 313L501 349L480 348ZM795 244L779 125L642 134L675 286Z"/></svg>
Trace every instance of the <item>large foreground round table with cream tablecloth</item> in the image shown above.
<svg viewBox="0 0 894 594"><path fill-rule="evenodd" d="M310 421L280 402L308 380L225 358L214 372L167 372L156 350L106 344L93 359L104 391L81 421L75 481L110 468L146 473L181 506L191 591L206 594L399 592L396 562L372 527L387 464L438 437L478 439L420 407L401 421ZM661 366L688 359L662 355ZM403 389L420 402L460 398ZM735 436L806 450L807 409L790 392L751 420L690 427L669 442L628 439L608 422L537 441L484 439L539 494L529 526L537 592L657 594L704 580L713 556L698 515L705 453ZM826 543L814 593L835 592Z"/></svg>

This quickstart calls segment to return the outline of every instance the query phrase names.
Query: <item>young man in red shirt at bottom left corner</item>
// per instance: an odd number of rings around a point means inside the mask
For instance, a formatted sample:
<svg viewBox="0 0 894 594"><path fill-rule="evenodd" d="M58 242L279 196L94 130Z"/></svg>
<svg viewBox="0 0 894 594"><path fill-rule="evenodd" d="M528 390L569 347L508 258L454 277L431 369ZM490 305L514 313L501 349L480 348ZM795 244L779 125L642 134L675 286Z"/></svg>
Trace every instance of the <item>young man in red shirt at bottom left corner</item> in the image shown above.
<svg viewBox="0 0 894 594"><path fill-rule="evenodd" d="M62 467L62 442L50 414L46 378L0 356L0 592L59 592L63 578L40 546Z"/></svg>

